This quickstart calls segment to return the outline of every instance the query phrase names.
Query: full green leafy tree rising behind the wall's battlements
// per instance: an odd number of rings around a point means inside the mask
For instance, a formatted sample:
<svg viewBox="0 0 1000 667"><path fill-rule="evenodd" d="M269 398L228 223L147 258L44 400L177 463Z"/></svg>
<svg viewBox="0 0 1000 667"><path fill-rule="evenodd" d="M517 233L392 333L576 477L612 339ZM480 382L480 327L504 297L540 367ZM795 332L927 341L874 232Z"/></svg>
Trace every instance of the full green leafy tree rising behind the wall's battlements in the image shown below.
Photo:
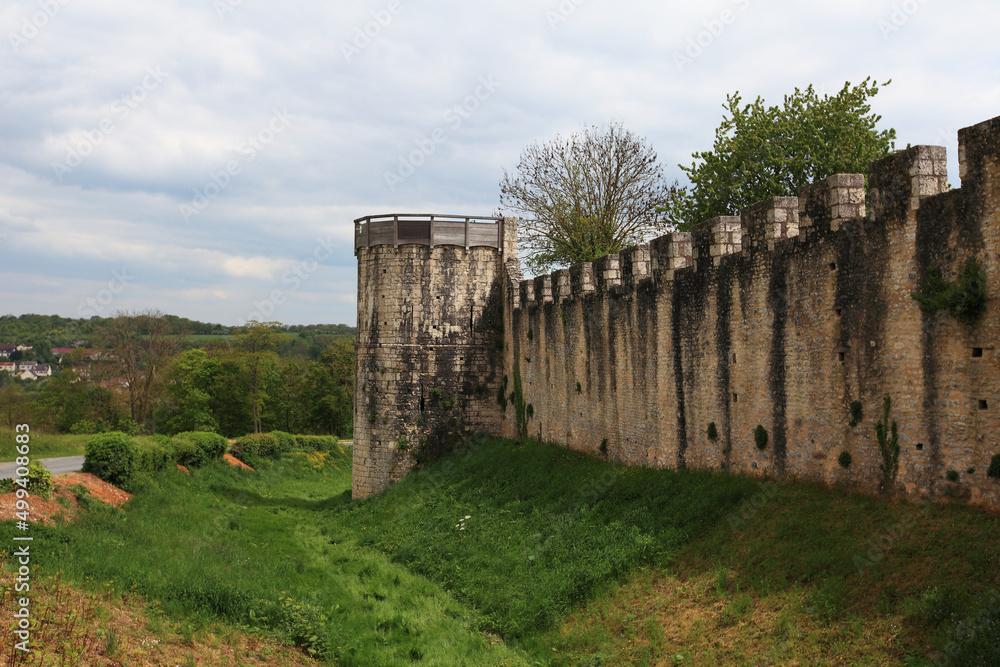
<svg viewBox="0 0 1000 667"><path fill-rule="evenodd" d="M796 88L780 107L760 97L742 105L739 92L727 96L712 150L694 153L690 167L679 165L691 186L668 212L670 221L688 229L770 197L794 196L833 174L866 174L869 162L895 147L896 131L876 129L882 117L871 110L871 98L889 83L869 77L822 97L811 85Z"/></svg>

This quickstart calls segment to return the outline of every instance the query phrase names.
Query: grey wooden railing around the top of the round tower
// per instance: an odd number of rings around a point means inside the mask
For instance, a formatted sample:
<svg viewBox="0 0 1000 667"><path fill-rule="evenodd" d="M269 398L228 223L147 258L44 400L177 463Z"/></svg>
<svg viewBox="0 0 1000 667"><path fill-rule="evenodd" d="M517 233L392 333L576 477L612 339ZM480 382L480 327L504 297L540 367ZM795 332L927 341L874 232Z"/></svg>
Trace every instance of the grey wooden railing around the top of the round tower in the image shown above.
<svg viewBox="0 0 1000 667"><path fill-rule="evenodd" d="M427 213L368 215L354 221L354 254L376 245L399 247L407 243L500 248L503 218Z"/></svg>

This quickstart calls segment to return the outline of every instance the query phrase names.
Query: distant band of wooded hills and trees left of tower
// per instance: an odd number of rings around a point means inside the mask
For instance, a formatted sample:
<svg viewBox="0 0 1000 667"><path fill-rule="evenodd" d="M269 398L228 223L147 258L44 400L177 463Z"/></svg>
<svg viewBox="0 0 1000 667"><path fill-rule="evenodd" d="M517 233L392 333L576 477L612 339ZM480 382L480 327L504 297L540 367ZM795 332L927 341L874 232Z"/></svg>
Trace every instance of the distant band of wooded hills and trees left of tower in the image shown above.
<svg viewBox="0 0 1000 667"><path fill-rule="evenodd" d="M99 355L87 362L78 350L53 377L34 382L0 373L0 427L351 435L353 327L250 322L205 341L179 336L182 318L157 311L83 321L86 328L49 316L3 319L8 330L14 320L86 332Z"/></svg>

